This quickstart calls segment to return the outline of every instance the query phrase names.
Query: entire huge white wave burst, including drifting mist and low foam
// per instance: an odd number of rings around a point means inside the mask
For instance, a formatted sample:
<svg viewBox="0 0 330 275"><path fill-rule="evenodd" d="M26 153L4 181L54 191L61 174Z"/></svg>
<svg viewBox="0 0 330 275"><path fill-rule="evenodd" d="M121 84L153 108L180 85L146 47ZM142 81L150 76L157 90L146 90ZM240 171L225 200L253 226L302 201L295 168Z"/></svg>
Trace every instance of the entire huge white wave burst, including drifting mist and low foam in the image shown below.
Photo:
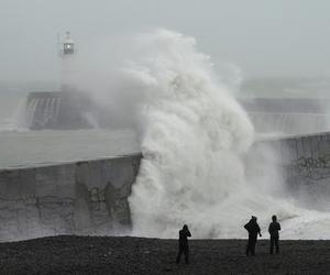
<svg viewBox="0 0 330 275"><path fill-rule="evenodd" d="M244 238L251 215L265 233L276 213L282 238L330 238L329 213L295 207L282 190L280 160L272 148L251 147L246 113L193 37L156 30L114 41L120 50L88 52L76 80L110 119L140 133L143 160L129 198L133 235L175 238L188 223L196 238Z"/></svg>

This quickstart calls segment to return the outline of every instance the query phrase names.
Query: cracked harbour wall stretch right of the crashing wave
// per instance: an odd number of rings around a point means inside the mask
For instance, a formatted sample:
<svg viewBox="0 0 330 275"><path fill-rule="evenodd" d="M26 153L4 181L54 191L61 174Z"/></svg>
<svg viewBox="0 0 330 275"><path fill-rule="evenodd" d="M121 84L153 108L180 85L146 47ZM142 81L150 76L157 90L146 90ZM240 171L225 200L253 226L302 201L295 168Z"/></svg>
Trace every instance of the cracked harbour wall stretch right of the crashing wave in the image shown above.
<svg viewBox="0 0 330 275"><path fill-rule="evenodd" d="M263 147L276 155L273 165L293 198L311 209L330 210L330 133L268 139L251 151Z"/></svg>

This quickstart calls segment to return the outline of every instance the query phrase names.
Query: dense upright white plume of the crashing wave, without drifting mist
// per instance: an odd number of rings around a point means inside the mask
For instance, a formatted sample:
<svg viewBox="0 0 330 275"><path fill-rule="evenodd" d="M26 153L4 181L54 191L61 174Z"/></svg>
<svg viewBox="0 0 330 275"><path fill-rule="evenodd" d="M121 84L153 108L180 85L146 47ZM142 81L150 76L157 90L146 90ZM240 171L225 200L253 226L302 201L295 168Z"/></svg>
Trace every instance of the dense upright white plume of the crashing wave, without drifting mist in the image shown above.
<svg viewBox="0 0 330 275"><path fill-rule="evenodd" d="M168 238L186 222L196 237L235 237L260 208L242 162L253 127L194 38L158 30L139 42L144 53L124 69L147 94L130 197L134 234Z"/></svg>

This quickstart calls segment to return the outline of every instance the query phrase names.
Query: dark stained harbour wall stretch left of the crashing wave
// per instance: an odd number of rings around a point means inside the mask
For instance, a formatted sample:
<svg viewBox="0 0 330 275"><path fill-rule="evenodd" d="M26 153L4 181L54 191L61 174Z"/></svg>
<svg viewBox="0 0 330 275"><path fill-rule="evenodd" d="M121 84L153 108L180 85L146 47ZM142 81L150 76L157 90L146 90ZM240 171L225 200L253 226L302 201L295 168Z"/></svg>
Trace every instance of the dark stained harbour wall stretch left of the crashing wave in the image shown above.
<svg viewBox="0 0 330 275"><path fill-rule="evenodd" d="M124 233L141 155L0 169L0 241Z"/></svg>

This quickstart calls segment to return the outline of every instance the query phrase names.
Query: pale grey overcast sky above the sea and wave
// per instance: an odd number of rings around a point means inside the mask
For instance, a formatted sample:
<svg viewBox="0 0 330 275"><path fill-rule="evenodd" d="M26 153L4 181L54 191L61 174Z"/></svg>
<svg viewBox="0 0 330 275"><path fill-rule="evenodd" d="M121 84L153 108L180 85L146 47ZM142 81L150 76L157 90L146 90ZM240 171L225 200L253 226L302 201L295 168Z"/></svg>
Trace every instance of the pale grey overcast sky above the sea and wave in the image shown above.
<svg viewBox="0 0 330 275"><path fill-rule="evenodd" d="M79 46L157 26L244 76L330 76L329 0L0 0L0 80L58 79L58 32Z"/></svg>

